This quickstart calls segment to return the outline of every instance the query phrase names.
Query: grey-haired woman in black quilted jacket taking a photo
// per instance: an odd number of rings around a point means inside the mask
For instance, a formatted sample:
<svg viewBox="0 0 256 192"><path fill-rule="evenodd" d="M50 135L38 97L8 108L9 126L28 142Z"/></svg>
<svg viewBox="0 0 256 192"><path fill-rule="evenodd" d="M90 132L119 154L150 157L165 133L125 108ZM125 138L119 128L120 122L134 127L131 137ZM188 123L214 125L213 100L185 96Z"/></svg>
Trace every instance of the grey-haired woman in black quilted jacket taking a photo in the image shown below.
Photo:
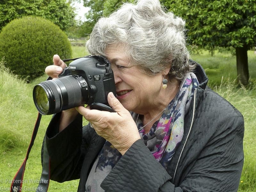
<svg viewBox="0 0 256 192"><path fill-rule="evenodd" d="M80 179L81 192L237 191L243 116L206 86L185 32L158 0L125 3L96 23L86 46L111 62L116 113L80 106L53 116L52 180ZM66 64L58 55L53 63L45 71L58 77Z"/></svg>

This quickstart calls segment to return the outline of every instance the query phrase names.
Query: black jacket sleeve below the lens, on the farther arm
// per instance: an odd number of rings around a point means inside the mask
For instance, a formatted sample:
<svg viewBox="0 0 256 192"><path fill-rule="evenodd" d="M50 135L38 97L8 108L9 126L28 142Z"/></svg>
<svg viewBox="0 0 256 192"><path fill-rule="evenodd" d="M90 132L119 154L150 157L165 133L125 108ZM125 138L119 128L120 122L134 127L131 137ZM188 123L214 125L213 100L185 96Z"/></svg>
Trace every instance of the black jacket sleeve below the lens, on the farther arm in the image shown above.
<svg viewBox="0 0 256 192"><path fill-rule="evenodd" d="M82 116L76 119L63 131L59 129L59 114L55 114L46 130L46 146L50 156L51 180L64 182L79 179L80 170L87 145L82 138Z"/></svg>

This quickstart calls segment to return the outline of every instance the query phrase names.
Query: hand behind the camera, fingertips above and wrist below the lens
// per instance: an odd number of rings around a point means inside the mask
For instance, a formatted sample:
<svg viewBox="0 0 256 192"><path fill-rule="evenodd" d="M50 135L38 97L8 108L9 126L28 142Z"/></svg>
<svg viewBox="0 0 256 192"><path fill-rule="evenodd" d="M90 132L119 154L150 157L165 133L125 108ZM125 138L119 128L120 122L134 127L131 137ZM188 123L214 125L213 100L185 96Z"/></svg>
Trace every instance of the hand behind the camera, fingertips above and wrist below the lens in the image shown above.
<svg viewBox="0 0 256 192"><path fill-rule="evenodd" d="M53 55L53 65L47 66L45 68L45 73L52 77L52 80L57 79L62 73L63 69L67 67L66 63L60 59L59 55ZM62 111L60 116L60 128L59 131L65 129L77 116L78 112L76 108L71 108L65 111Z"/></svg>

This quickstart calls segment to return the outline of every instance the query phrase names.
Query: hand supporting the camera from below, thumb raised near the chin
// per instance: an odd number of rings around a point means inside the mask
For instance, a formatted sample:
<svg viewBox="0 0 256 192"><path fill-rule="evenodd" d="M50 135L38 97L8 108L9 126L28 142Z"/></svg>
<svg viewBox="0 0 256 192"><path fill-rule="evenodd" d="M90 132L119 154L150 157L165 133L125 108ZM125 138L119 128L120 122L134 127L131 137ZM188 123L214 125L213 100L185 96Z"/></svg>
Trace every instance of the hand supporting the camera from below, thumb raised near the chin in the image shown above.
<svg viewBox="0 0 256 192"><path fill-rule="evenodd" d="M140 139L138 128L128 110L116 99L112 92L108 93L108 103L116 112L99 111L79 106L76 110L91 122L98 135L108 140L122 155Z"/></svg>

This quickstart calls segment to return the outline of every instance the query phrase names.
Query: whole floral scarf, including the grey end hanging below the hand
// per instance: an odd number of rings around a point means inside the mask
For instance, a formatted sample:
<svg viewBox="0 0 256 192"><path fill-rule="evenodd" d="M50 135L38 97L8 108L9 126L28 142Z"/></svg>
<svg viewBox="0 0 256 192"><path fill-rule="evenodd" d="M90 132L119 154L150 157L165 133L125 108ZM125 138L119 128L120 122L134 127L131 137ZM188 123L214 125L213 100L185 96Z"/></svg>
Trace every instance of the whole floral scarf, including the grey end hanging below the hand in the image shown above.
<svg viewBox="0 0 256 192"><path fill-rule="evenodd" d="M180 90L175 98L169 103L163 112L163 115L157 120L150 131L140 131L140 137L151 151L152 155L166 169L172 159L175 149L179 146L184 132L184 117L188 113L192 101L194 90L198 86L198 81L194 73L188 73L180 84ZM136 121L138 114L131 112L133 119ZM143 127L143 123L138 118L136 123L138 130ZM93 164L92 170L86 182L86 191L103 191L100 188L101 182L108 173L113 169L121 154L111 143L106 141L101 149L98 158Z"/></svg>

